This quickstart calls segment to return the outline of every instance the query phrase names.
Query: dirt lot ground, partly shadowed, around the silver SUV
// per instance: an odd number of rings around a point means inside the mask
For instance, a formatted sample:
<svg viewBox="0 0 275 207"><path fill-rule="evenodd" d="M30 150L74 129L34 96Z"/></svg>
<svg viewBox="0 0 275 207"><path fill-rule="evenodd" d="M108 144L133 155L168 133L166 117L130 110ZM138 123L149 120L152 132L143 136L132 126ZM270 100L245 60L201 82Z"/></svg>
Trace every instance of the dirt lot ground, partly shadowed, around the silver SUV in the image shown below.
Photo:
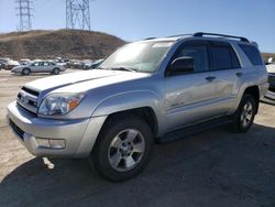
<svg viewBox="0 0 275 207"><path fill-rule="evenodd" d="M8 128L19 88L46 76L0 70L0 206L275 206L275 106L261 103L249 133L223 127L156 145L140 176L109 183L86 160L32 156Z"/></svg>

